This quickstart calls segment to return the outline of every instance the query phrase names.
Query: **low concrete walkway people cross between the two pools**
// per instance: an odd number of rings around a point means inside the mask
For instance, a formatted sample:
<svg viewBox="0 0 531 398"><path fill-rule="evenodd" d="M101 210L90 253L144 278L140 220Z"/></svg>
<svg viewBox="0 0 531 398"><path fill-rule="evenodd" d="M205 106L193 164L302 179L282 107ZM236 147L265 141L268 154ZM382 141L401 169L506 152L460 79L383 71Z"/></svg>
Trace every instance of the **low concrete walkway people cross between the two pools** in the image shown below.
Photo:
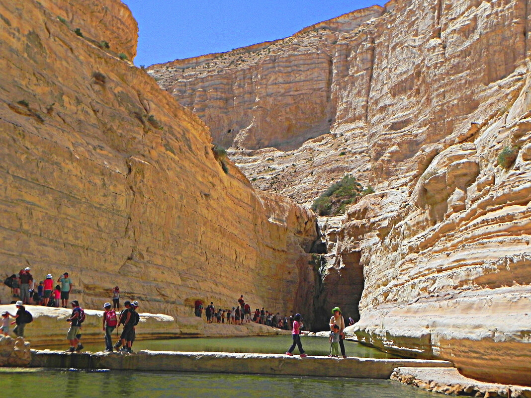
<svg viewBox="0 0 531 398"><path fill-rule="evenodd" d="M68 353L32 350L31 367L192 371L264 375L389 379L398 367L452 367L451 362L419 359L288 357L284 354L139 351L135 354Z"/></svg>

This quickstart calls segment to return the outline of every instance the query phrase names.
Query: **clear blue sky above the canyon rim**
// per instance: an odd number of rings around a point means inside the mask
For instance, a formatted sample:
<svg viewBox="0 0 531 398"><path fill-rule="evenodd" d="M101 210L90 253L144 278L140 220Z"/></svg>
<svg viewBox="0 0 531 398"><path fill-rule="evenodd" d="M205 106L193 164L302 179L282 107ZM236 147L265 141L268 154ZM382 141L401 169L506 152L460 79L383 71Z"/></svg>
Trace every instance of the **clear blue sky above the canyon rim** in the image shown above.
<svg viewBox="0 0 531 398"><path fill-rule="evenodd" d="M221 53L291 36L382 0L122 0L139 25L136 65Z"/></svg>

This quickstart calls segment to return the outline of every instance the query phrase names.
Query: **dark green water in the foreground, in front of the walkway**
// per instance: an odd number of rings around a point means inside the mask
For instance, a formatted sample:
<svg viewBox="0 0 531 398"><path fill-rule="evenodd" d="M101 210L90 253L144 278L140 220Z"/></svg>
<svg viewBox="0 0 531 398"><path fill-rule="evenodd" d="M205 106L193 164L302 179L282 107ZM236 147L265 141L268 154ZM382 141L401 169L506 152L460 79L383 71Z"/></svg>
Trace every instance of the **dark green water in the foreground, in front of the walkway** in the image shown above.
<svg viewBox="0 0 531 398"><path fill-rule="evenodd" d="M141 371L0 371L0 391L24 398L434 398L390 380L309 376L148 373Z"/></svg>

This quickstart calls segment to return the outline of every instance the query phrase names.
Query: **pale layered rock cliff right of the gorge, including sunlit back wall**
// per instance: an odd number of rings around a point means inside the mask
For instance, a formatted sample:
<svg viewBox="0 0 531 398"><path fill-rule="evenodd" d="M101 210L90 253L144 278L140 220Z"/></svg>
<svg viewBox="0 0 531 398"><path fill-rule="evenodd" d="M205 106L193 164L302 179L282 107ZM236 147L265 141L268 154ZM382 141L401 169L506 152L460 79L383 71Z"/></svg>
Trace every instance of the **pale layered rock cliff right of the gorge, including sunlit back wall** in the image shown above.
<svg viewBox="0 0 531 398"><path fill-rule="evenodd" d="M361 296L358 339L529 385L530 5L391 1L150 73L255 186L306 204L346 171L374 187L321 223L323 302Z"/></svg>

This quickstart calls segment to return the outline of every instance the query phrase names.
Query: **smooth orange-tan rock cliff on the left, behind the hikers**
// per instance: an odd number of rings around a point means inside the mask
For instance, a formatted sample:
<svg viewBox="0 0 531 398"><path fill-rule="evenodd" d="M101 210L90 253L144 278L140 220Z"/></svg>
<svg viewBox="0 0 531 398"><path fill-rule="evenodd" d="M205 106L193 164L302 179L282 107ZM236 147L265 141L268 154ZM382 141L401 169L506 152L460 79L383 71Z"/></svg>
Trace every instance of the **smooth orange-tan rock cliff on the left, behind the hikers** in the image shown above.
<svg viewBox="0 0 531 398"><path fill-rule="evenodd" d="M243 294L310 321L312 213L215 157L207 127L126 59L136 30L117 0L0 4L3 273L67 271L84 308L119 285L152 313Z"/></svg>

